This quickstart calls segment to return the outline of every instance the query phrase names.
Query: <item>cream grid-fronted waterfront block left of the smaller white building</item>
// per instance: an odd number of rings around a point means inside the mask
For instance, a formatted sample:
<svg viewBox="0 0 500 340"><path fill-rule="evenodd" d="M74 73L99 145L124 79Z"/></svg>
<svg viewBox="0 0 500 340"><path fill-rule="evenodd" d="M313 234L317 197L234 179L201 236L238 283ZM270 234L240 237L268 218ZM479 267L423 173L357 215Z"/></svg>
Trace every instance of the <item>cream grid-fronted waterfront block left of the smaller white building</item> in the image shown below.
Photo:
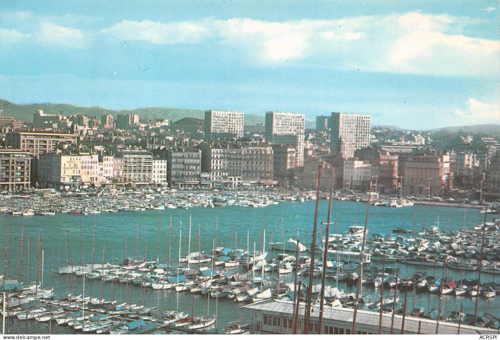
<svg viewBox="0 0 500 340"><path fill-rule="evenodd" d="M122 150L122 178L124 182L150 183L153 156L146 150Z"/></svg>

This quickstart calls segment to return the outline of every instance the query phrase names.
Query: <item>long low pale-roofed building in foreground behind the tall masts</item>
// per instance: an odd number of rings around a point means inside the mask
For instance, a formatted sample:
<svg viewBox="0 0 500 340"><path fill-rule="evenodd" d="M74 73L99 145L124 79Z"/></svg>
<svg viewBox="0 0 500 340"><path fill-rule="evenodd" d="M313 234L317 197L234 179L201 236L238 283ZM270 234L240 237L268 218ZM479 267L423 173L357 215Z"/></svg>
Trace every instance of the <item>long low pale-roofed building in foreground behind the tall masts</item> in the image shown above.
<svg viewBox="0 0 500 340"><path fill-rule="evenodd" d="M259 333L291 334L293 318L293 301L268 300L260 303L250 303L242 308L251 313L250 329ZM350 334L352 330L353 308L331 307L323 308L322 334ZM305 305L299 302L297 334L304 329ZM379 312L357 309L356 334L378 334ZM392 322L392 317L394 321ZM401 334L402 315L391 312L382 313L382 334ZM313 305L309 317L309 334L319 333L319 306ZM404 319L404 334L435 334L436 321L406 315ZM438 334L496 334L497 329L474 327L465 324L439 321Z"/></svg>

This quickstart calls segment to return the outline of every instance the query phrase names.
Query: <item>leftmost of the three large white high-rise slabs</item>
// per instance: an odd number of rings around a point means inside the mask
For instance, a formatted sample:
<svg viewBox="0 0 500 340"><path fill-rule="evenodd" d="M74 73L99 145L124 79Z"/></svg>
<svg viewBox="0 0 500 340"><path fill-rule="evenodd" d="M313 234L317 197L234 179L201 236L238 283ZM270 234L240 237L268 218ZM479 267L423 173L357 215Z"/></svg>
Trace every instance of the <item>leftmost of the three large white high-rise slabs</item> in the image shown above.
<svg viewBox="0 0 500 340"><path fill-rule="evenodd" d="M206 110L204 139L243 138L243 113L237 111Z"/></svg>

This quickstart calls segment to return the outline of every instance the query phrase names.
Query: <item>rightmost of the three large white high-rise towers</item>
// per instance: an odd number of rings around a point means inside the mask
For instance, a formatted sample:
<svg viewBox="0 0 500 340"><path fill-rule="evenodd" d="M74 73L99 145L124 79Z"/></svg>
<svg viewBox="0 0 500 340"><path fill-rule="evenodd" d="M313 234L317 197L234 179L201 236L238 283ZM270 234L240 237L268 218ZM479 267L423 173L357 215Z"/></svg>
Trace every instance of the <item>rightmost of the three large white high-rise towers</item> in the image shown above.
<svg viewBox="0 0 500 340"><path fill-rule="evenodd" d="M340 139L344 143L344 158L354 157L354 151L370 146L370 116L331 113L330 153L338 150Z"/></svg>

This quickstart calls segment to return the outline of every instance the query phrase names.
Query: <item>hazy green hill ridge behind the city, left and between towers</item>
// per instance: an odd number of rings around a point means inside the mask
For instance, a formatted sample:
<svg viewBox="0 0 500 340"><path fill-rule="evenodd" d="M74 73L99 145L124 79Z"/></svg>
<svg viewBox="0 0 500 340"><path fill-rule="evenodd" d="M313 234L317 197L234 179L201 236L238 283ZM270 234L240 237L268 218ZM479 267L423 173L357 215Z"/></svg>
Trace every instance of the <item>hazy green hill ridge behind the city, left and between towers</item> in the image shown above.
<svg viewBox="0 0 500 340"><path fill-rule="evenodd" d="M71 104L51 104L51 103L38 103L38 104L14 104L6 100L0 99L0 110L3 110L4 116L14 117L17 120L24 122L33 121L33 113L36 109L43 110L43 113L48 115L57 115L62 111L65 116L71 115L85 115L99 117L105 114L112 114L116 116L122 113L138 114L140 119L143 118L157 118L168 119L170 122L175 122L184 117L204 118L204 110L197 109L178 109L178 108L137 108L126 110L109 110L101 107L81 107ZM244 122L248 125L264 124L265 117L259 115L245 114ZM305 121L306 128L314 128L315 123Z"/></svg>

